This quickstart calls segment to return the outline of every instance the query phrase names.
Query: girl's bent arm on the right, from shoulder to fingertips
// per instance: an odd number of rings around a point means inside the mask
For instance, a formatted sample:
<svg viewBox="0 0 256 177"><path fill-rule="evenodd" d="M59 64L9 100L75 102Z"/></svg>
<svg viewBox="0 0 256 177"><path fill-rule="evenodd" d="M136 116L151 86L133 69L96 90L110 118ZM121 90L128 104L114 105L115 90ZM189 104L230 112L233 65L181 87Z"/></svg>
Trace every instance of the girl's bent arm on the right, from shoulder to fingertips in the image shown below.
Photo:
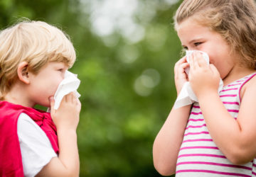
<svg viewBox="0 0 256 177"><path fill-rule="evenodd" d="M245 84L235 120L218 96L220 75L201 56L191 62L190 81L198 97L206 125L215 144L233 164L245 164L256 156L256 80Z"/></svg>

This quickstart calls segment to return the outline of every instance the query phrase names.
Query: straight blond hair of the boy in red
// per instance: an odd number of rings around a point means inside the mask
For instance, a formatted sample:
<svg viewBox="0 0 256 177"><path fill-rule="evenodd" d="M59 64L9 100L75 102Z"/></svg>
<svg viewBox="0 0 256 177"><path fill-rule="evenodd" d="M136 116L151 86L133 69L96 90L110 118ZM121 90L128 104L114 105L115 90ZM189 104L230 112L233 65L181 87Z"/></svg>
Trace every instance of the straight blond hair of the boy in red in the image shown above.
<svg viewBox="0 0 256 177"><path fill-rule="evenodd" d="M21 21L0 32L0 100L9 92L21 62L37 74L48 62L72 67L75 49L68 35L43 21Z"/></svg>

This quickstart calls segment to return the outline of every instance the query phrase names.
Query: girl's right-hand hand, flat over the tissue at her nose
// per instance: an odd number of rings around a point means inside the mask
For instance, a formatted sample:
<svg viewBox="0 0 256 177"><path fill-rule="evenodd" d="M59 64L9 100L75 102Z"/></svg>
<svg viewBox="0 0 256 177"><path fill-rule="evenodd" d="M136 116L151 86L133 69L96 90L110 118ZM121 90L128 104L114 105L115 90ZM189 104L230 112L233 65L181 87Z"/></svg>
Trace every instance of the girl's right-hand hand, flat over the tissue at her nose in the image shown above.
<svg viewBox="0 0 256 177"><path fill-rule="evenodd" d="M188 78L198 99L210 91L218 91L220 73L213 64L208 65L199 52L191 56Z"/></svg>

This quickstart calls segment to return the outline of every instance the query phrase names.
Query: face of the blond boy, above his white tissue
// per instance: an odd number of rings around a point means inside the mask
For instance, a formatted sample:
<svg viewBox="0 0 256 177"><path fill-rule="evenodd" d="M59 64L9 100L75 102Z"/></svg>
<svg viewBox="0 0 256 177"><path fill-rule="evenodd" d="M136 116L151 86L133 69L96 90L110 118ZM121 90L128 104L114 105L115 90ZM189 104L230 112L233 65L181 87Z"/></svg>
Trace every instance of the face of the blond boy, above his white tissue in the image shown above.
<svg viewBox="0 0 256 177"><path fill-rule="evenodd" d="M49 62L38 74L29 72L28 96L31 103L50 107L49 98L54 96L67 69L67 65L63 62Z"/></svg>

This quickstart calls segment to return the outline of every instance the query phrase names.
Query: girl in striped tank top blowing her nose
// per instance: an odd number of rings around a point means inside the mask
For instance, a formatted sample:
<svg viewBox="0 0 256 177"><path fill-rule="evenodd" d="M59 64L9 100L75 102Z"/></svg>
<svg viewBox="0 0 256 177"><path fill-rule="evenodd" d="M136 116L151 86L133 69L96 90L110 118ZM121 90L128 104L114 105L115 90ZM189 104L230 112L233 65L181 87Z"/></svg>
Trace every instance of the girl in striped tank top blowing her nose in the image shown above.
<svg viewBox="0 0 256 177"><path fill-rule="evenodd" d="M255 21L253 0L179 6L181 44L200 52L192 51L189 64L186 56L176 62L176 90L189 82L197 101L173 108L156 136L154 166L162 175L256 176Z"/></svg>

